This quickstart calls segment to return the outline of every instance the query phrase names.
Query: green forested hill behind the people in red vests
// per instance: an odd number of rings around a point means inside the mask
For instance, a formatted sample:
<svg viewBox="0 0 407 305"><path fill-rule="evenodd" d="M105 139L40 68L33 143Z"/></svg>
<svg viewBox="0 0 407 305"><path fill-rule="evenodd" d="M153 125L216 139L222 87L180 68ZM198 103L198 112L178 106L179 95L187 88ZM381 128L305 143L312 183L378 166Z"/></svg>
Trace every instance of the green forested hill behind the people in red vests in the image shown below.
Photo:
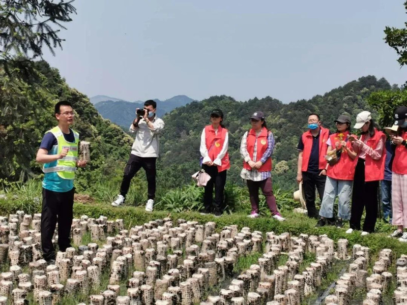
<svg viewBox="0 0 407 305"><path fill-rule="evenodd" d="M282 188L295 188L296 147L300 135L306 130L307 115L311 112L321 114L324 126L334 131L333 121L339 114L350 115L354 124L360 111L370 110L366 102L370 93L390 88L386 79L377 80L374 76L366 76L323 96L317 95L310 100L289 104L271 97L239 102L227 96L192 102L164 116L165 129L160 138L160 175L165 177L168 187L191 180L191 174L198 169L200 134L203 127L209 124L211 109L216 107L223 110L224 123L229 130L231 168L227 180L242 183L239 176L242 168L240 141L244 132L250 128L250 115L261 110L265 113L268 127L277 143L273 155L273 182Z"/></svg>

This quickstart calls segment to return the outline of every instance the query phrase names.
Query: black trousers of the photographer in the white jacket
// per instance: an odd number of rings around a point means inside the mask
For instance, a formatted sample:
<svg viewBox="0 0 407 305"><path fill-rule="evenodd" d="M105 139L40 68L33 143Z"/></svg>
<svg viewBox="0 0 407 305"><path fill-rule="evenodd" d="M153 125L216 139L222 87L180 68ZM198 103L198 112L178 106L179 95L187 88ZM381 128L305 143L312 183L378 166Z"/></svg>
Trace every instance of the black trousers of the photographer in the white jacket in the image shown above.
<svg viewBox="0 0 407 305"><path fill-rule="evenodd" d="M126 167L124 168L122 185L120 186L120 195L126 197L131 179L142 167L146 171L147 176L148 198L154 199L156 195L156 160L157 158L155 157L143 158L130 154L129 161L127 161Z"/></svg>

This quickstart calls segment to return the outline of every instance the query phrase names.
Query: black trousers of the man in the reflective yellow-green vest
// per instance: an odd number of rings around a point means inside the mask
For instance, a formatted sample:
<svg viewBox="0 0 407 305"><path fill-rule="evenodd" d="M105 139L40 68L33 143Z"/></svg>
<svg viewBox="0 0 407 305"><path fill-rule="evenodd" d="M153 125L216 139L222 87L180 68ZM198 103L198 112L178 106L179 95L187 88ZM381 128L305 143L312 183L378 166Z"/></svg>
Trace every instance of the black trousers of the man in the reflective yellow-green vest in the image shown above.
<svg viewBox="0 0 407 305"><path fill-rule="evenodd" d="M42 189L41 210L41 247L45 260L55 259L55 249L52 236L58 222L58 246L60 251L71 247L69 235L73 218L73 195L75 189L69 192L53 192Z"/></svg>

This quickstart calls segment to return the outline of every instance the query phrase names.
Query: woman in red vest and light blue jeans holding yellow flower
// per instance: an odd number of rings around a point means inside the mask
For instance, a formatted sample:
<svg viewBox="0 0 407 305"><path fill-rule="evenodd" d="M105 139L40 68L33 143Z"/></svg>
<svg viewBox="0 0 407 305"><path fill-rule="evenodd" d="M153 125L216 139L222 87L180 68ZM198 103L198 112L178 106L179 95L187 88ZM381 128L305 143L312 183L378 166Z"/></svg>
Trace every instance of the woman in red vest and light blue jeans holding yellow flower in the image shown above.
<svg viewBox="0 0 407 305"><path fill-rule="evenodd" d="M352 185L358 161L351 141L347 140L351 130L351 118L347 115L339 115L335 125L336 133L330 135L327 141L327 157L330 151L335 150L338 161L332 165L327 164L326 167L327 181L321 209L319 209L321 218L316 224L317 227L335 223L336 227L341 228L342 221L351 218ZM336 196L338 196L338 217L335 221L333 208Z"/></svg>

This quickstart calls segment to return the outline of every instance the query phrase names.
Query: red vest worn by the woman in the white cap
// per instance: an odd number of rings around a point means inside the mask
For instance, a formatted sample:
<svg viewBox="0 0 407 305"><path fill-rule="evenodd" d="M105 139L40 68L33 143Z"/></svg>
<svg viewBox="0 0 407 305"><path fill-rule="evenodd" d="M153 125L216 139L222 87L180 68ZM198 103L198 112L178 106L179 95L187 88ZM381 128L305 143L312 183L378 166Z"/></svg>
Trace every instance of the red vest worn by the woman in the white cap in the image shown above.
<svg viewBox="0 0 407 305"><path fill-rule="evenodd" d="M362 135L361 141L363 142L366 135ZM386 138L385 134L377 129L374 129L374 136L367 140L366 145L371 148L376 148L381 138ZM386 147L383 141L383 154L379 160L373 160L366 154L365 162L365 181L383 180L385 177L385 163L386 163Z"/></svg>

